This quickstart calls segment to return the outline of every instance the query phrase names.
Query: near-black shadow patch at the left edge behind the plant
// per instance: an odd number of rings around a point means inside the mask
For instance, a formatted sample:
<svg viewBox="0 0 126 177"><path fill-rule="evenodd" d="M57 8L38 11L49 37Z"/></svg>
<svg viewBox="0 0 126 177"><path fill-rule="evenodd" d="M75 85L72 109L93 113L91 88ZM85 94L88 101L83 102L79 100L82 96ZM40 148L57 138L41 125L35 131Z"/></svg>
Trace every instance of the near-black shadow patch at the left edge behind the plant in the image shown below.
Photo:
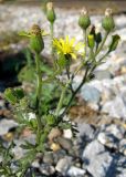
<svg viewBox="0 0 126 177"><path fill-rule="evenodd" d="M4 53L0 52L0 91L3 92L6 87L18 86L21 83L17 75L25 65L25 56L23 52Z"/></svg>

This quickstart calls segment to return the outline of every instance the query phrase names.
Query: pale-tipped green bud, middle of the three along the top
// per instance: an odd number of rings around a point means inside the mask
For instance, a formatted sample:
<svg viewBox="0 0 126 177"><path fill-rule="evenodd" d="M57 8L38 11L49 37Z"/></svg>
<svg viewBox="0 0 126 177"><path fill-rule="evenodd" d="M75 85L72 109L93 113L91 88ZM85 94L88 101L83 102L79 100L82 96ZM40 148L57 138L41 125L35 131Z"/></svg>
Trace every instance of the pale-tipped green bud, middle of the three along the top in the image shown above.
<svg viewBox="0 0 126 177"><path fill-rule="evenodd" d="M81 12L80 19L78 19L78 25L83 29L86 30L91 24L91 19L87 13L87 10L84 8Z"/></svg>

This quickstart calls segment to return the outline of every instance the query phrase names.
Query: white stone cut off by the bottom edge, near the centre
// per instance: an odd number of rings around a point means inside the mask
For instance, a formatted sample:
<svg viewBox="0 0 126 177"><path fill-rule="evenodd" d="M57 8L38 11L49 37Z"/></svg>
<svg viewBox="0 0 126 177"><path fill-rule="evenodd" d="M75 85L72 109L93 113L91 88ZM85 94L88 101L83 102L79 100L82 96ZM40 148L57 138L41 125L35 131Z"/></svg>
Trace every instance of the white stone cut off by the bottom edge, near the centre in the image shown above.
<svg viewBox="0 0 126 177"><path fill-rule="evenodd" d="M71 166L66 173L66 175L70 177L83 177L84 174L85 174L84 169L77 168L75 166Z"/></svg>

